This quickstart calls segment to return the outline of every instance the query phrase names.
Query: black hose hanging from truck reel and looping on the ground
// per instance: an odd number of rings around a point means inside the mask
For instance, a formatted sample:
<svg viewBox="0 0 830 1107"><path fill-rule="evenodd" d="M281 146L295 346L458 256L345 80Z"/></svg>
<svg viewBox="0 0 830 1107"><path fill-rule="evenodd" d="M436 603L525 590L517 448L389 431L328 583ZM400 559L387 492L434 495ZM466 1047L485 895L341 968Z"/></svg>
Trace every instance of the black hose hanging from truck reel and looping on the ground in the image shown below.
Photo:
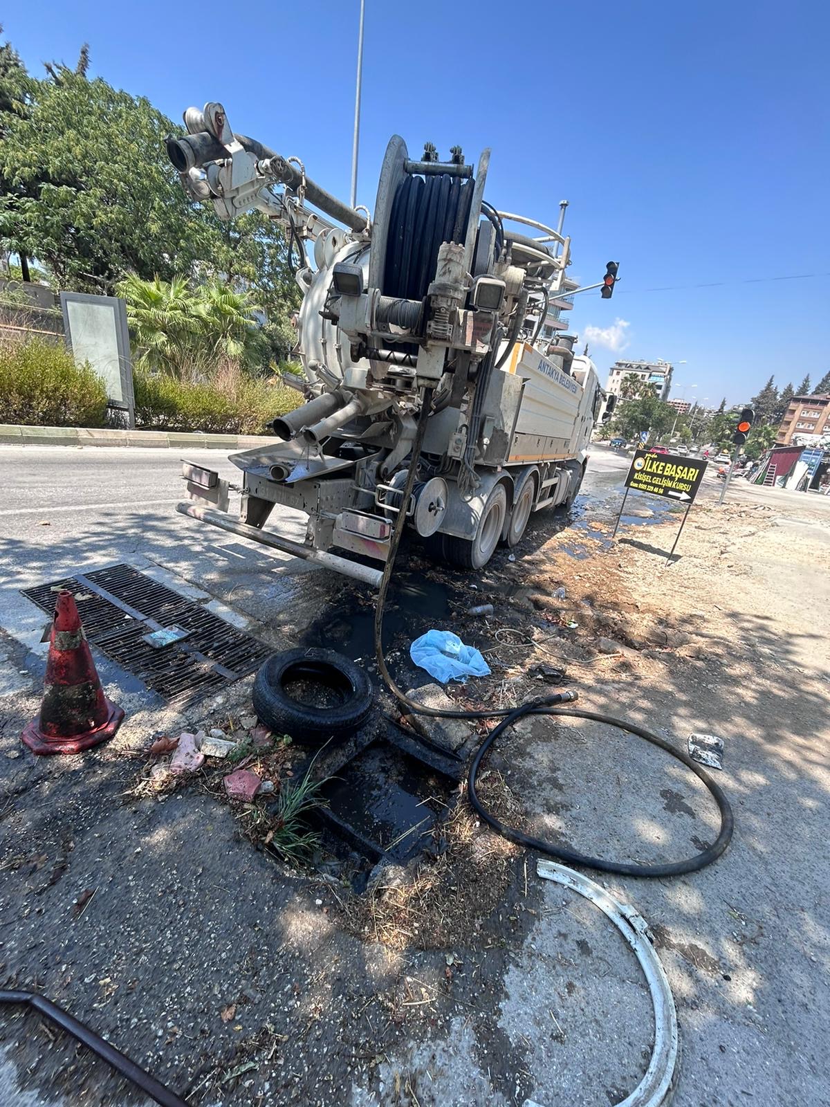
<svg viewBox="0 0 830 1107"><path fill-rule="evenodd" d="M418 458L421 456L421 447L424 443L424 435L426 434L432 401L433 390L426 389L424 391L421 415L418 417L418 425L415 432L415 441L412 444L409 468L406 474L406 482L402 488L402 505L409 503L412 490L415 487ZM674 746L664 742L663 738L658 737L656 734L652 734L651 731L646 731L642 726L636 726L634 723L627 723L624 720L615 718L612 715L603 715L595 711L583 711L578 707L559 708L557 706L558 704L575 700L575 692L560 692L556 695L548 696L547 699L531 700L519 707L489 707L486 711L440 711L436 707L425 707L423 704L415 703L401 691L388 671L386 659L383 654L383 614L386 607L386 593L388 592L390 581L395 568L395 559L397 558L397 550L401 545L401 538L405 526L406 511L402 508L395 517L395 526L393 527L392 538L390 539L390 552L383 570L383 577L381 578L381 587L377 590L377 602L375 606L374 619L374 641L377 671L383 677L390 692L406 707L408 712L416 715L428 715L434 718L502 718L502 722L487 735L485 741L478 747L467 777L467 789L470 803L481 818L489 823L489 825L495 830L498 830L499 834L518 845L538 850L540 853L547 853L549 857L556 857L561 861L566 861L568 865L580 865L588 869L599 869L601 872L615 872L620 876L626 877L679 876L684 872L695 872L697 869L703 869L705 866L710 865L714 860L720 857L726 847L729 845L734 829L734 817L728 799L708 773L705 773L701 766L693 762L686 754L682 753L679 749L675 749ZM511 827L505 826L494 815L490 815L489 811L487 811L487 809L481 805L481 800L478 798L478 794L476 792L476 776L484 755L487 753L495 739L525 715L571 715L574 718L591 718L600 723L608 723L610 726L616 726L621 731L626 731L629 734L636 734L639 737L645 738L646 742L651 742L652 745L655 745L660 749L664 749L666 753L671 754L672 757L682 762L687 768L691 768L692 772L701 778L701 780L703 780L712 794L713 799L717 804L718 811L720 813L720 830L714 845L707 847L685 861L672 861L667 865L630 865L619 861L605 861L602 858L591 857L588 853L579 853L572 849L564 849L562 847L554 846L552 842L542 841L539 838L531 838L521 834L519 830L513 830Z"/></svg>

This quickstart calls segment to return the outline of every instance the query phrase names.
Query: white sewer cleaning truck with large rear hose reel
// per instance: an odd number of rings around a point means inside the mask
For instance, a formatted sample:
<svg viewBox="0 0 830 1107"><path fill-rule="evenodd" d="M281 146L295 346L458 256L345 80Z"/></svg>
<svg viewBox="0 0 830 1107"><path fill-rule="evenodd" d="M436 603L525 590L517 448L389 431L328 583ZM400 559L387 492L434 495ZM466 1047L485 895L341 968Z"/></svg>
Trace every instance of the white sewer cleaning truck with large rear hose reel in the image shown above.
<svg viewBox="0 0 830 1107"><path fill-rule="evenodd" d="M273 445L230 457L241 484L185 463L179 511L377 584L401 511L430 557L480 569L531 513L573 504L604 394L556 318L574 291L608 299L618 263L584 289L567 278L566 201L556 228L499 210L485 199L489 151L474 166L427 143L415 159L395 135L370 214L232 132L221 104L188 108L185 126L167 153L187 195L286 229L303 402L274 420ZM304 544L266 529L274 505L308 515Z"/></svg>

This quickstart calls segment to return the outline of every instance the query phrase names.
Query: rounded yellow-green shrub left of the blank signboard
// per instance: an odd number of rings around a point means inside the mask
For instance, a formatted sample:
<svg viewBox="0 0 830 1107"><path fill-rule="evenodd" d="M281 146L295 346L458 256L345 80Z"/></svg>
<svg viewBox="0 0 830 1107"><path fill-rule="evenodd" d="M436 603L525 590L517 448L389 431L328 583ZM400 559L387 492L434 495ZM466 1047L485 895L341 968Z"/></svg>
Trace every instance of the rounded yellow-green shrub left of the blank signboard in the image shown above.
<svg viewBox="0 0 830 1107"><path fill-rule="evenodd" d="M106 386L89 363L41 339L0 343L0 423L103 426Z"/></svg>

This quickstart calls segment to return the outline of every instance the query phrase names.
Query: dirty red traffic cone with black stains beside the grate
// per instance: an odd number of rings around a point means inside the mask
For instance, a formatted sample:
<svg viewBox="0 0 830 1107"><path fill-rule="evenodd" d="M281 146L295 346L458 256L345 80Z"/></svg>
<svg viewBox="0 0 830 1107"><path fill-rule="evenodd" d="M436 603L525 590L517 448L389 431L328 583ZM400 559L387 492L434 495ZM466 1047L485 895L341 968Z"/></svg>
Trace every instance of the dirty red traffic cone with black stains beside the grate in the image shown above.
<svg viewBox="0 0 830 1107"><path fill-rule="evenodd" d="M77 754L113 737L124 711L104 695L72 592L58 593L40 715L23 731L35 754Z"/></svg>

